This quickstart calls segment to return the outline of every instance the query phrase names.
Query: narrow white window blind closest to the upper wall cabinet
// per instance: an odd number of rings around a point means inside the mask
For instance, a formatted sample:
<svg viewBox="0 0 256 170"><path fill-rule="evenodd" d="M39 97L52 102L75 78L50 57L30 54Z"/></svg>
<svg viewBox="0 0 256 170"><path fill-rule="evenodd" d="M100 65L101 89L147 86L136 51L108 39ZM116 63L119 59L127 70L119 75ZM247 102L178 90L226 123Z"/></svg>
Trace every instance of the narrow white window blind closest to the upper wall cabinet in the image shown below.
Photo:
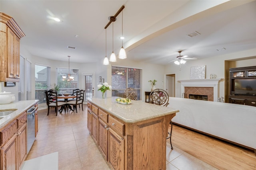
<svg viewBox="0 0 256 170"><path fill-rule="evenodd" d="M25 59L20 56L20 82L18 82L18 101L26 100L25 96Z"/></svg>

